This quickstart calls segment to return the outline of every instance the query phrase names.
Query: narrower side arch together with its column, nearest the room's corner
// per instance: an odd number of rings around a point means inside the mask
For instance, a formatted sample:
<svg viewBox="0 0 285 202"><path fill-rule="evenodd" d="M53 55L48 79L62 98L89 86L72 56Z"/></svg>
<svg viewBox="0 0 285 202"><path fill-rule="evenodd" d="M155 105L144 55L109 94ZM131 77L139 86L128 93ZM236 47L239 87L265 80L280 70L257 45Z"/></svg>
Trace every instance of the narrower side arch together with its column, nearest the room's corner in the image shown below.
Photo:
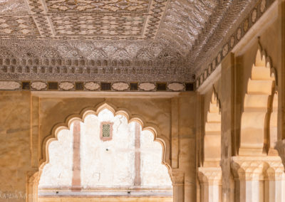
<svg viewBox="0 0 285 202"><path fill-rule="evenodd" d="M220 103L215 90L207 112L204 134L204 161L199 167L201 201L222 201L221 160L221 114Z"/></svg>

